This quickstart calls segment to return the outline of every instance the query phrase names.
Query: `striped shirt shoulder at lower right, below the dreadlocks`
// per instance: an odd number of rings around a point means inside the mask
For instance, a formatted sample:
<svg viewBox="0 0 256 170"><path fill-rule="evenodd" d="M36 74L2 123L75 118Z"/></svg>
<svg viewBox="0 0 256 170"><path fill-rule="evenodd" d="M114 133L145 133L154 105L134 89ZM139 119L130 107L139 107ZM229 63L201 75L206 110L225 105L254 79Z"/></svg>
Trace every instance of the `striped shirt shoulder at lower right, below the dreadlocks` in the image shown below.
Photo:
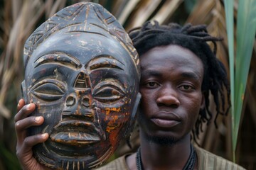
<svg viewBox="0 0 256 170"><path fill-rule="evenodd" d="M206 151L200 147L196 148L198 156L198 169L228 169L228 170L245 170L242 166L230 162L223 157L219 157L213 153Z"/></svg>

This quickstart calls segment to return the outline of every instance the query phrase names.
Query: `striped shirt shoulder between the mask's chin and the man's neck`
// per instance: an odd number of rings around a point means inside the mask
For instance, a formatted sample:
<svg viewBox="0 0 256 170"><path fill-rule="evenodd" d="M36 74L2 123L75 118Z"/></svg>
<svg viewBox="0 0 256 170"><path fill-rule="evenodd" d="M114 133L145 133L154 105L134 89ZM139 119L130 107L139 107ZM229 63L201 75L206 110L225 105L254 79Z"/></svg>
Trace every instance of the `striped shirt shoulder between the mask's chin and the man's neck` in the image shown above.
<svg viewBox="0 0 256 170"><path fill-rule="evenodd" d="M125 154L122 157L114 159L114 161L104 166L101 166L100 168L97 168L97 170L129 170L127 163L125 161L125 157L127 157L127 155L128 154Z"/></svg>

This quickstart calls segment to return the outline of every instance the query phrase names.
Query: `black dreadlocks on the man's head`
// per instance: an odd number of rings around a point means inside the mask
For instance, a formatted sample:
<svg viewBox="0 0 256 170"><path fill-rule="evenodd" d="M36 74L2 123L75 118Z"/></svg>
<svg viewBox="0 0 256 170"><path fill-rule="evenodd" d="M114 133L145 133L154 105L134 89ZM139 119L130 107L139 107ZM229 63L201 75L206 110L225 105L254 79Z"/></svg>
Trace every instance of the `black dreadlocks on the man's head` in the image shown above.
<svg viewBox="0 0 256 170"><path fill-rule="evenodd" d="M193 137L197 137L202 131L203 123L210 123L213 113L210 112L210 93L213 95L215 102L215 120L219 114L226 115L230 108L230 87L225 72L224 65L215 57L216 42L221 38L215 38L208 34L206 26L192 26L187 24L180 26L177 23L169 23L167 26L160 26L157 21L154 24L150 22L144 23L140 28L134 28L129 31L129 36L132 38L134 47L137 49L139 56L151 48L162 45L180 45L191 50L203 62L203 84L202 91L205 97L206 107L201 109L198 120L196 121L193 131ZM213 50L207 42L213 42ZM224 89L224 88L225 89ZM228 106L225 106L225 96L228 97Z"/></svg>

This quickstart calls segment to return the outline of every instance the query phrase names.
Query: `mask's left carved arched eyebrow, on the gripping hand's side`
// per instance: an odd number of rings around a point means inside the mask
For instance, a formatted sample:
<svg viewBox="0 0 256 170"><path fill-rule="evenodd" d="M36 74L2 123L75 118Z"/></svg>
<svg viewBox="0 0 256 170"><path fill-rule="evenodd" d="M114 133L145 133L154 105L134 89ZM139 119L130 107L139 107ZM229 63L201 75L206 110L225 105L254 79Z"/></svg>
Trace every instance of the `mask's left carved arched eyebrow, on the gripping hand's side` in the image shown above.
<svg viewBox="0 0 256 170"><path fill-rule="evenodd" d="M80 64L78 59L64 52L53 52L47 55L43 55L39 57L38 60L36 60L34 63L36 64L35 68L47 63L56 63L63 65L64 67L73 67L74 69L82 67L82 64Z"/></svg>

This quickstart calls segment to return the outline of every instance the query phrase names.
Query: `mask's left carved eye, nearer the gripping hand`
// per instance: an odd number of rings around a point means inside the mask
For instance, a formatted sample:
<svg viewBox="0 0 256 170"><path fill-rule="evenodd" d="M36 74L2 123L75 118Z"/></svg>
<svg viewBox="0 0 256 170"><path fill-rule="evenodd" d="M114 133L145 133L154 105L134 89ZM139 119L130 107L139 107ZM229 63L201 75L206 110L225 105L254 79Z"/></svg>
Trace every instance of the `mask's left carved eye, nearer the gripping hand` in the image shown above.
<svg viewBox="0 0 256 170"><path fill-rule="evenodd" d="M56 101L65 94L64 84L53 80L43 80L31 89L31 94L43 101Z"/></svg>

